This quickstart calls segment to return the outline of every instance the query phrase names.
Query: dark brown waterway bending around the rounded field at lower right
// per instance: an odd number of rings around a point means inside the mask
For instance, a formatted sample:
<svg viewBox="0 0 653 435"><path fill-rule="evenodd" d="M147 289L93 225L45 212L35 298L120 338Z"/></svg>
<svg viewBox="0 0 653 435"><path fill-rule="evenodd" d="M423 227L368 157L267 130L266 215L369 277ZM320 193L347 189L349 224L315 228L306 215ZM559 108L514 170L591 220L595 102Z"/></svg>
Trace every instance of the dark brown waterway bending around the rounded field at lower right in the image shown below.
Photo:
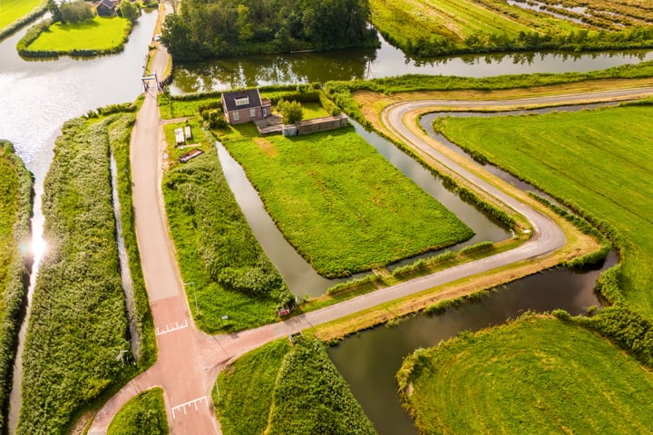
<svg viewBox="0 0 653 435"><path fill-rule="evenodd" d="M379 435L416 434L413 420L401 408L395 381L405 356L462 331L503 324L529 310L562 308L570 314L586 314L590 306L600 306L594 293L600 272L616 263L617 256L610 254L598 270L552 269L530 275L444 314L420 314L396 326L378 326L353 335L328 353Z"/></svg>

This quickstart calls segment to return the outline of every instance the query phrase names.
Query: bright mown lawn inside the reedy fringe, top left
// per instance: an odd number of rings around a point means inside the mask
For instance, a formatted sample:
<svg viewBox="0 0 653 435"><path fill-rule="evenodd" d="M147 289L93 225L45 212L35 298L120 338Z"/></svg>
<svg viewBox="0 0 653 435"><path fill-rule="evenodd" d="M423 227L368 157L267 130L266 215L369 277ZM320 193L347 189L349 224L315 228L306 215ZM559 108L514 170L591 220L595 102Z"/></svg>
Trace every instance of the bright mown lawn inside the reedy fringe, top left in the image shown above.
<svg viewBox="0 0 653 435"><path fill-rule="evenodd" d="M27 46L28 52L71 52L110 50L122 44L129 20L118 16L95 16L79 24L55 23Z"/></svg>

